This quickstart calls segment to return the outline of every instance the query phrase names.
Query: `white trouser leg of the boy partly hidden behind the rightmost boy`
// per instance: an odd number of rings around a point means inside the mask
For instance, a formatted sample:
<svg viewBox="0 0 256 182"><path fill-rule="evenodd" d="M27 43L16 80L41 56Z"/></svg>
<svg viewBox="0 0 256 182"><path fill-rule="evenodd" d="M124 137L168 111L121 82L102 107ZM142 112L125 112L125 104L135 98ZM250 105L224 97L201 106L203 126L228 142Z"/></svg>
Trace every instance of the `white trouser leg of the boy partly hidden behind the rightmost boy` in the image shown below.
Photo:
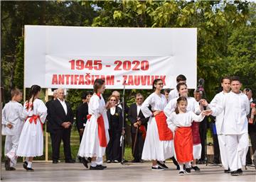
<svg viewBox="0 0 256 182"><path fill-rule="evenodd" d="M225 170L228 170L228 149L225 140L225 135L219 134L218 135L218 144L220 147L220 159L221 164Z"/></svg>

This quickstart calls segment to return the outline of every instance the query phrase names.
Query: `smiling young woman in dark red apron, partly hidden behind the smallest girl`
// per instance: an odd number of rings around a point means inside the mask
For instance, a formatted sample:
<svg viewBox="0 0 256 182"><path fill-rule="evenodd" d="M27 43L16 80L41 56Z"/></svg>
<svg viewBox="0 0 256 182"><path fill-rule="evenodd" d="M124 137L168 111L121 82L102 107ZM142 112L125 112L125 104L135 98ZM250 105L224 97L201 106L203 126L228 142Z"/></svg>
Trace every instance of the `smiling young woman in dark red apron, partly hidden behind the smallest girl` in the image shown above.
<svg viewBox="0 0 256 182"><path fill-rule="evenodd" d="M179 84L177 84L176 87L177 87L177 91L178 91L179 95L186 97L186 99L188 101L188 106L186 109L188 111L192 111L193 113L200 114L201 110L203 110L203 108L201 108L199 106L199 103L196 101L195 98L188 96L187 85L185 83L179 83ZM164 113L166 114L167 118L170 118L171 113L174 112L174 110L177 106L177 99L178 98L171 99L171 101L169 101L167 106L164 108ZM198 166L196 166L196 159L201 158L201 150L202 150L200 134L199 134L199 123L192 124L192 135L193 135L193 164L191 167L195 171L200 171ZM186 168L187 173L190 173L190 171L191 171L190 168Z"/></svg>

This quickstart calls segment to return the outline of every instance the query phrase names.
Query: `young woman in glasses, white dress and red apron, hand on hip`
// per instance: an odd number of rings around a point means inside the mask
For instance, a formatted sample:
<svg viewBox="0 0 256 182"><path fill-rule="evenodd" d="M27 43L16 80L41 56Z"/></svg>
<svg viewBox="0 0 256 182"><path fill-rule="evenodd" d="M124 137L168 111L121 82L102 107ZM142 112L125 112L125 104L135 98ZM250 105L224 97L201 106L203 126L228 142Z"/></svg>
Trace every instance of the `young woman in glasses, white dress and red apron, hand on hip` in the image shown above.
<svg viewBox="0 0 256 182"><path fill-rule="evenodd" d="M168 169L163 161L174 156L173 133L166 123L166 116L163 112L167 102L165 96L160 93L161 89L163 89L163 81L155 79L153 81L154 93L146 98L141 107L145 118L150 117L142 159L153 160L152 170Z"/></svg>

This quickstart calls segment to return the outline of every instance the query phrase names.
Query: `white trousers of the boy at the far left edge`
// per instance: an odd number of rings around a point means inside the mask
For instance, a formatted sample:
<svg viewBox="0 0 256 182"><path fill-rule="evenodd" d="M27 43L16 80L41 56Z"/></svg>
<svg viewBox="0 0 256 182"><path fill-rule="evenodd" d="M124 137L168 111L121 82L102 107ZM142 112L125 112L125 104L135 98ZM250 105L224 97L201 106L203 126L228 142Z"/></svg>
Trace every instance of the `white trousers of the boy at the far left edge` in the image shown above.
<svg viewBox="0 0 256 182"><path fill-rule="evenodd" d="M10 166L14 167L17 163L16 151L18 149L19 135L6 135L4 144L4 154L11 159Z"/></svg>

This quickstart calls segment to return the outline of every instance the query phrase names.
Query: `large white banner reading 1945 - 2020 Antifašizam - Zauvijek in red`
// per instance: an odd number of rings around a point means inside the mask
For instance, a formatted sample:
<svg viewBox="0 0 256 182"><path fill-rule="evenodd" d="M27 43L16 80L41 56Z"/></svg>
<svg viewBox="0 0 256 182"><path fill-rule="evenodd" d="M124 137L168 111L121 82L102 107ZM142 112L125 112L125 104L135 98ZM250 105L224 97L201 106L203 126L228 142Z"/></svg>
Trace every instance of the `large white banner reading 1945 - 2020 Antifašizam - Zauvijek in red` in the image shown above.
<svg viewBox="0 0 256 182"><path fill-rule="evenodd" d="M151 89L154 79L175 88L184 74L196 88L196 28L25 26L25 78L30 87Z"/></svg>

